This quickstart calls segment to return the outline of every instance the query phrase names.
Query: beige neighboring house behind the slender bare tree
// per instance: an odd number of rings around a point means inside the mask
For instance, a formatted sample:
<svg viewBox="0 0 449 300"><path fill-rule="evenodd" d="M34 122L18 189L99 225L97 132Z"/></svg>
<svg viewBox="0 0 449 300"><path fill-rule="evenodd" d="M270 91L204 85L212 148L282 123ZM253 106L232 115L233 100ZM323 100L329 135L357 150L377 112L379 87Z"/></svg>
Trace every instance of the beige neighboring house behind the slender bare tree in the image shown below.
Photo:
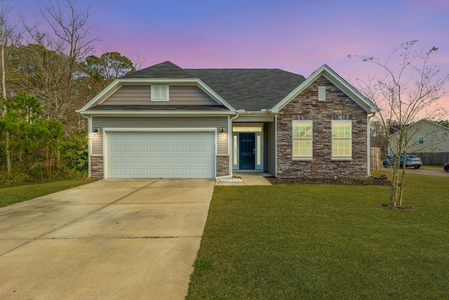
<svg viewBox="0 0 449 300"><path fill-rule="evenodd" d="M397 130L396 130L397 131ZM423 164L445 164L449 162L449 128L421 119L406 127L408 154L422 157ZM396 153L399 132L390 136L388 153Z"/></svg>

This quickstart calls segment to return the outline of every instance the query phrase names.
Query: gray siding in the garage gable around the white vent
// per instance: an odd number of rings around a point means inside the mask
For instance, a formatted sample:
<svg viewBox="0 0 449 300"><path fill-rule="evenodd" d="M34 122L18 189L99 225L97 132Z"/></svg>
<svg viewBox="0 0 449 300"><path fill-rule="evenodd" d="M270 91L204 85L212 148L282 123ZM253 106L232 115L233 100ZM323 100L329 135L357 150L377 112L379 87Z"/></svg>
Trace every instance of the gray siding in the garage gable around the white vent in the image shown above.
<svg viewBox="0 0 449 300"><path fill-rule="evenodd" d="M121 86L102 105L217 105L198 86L170 86L169 101L151 101L151 86Z"/></svg>

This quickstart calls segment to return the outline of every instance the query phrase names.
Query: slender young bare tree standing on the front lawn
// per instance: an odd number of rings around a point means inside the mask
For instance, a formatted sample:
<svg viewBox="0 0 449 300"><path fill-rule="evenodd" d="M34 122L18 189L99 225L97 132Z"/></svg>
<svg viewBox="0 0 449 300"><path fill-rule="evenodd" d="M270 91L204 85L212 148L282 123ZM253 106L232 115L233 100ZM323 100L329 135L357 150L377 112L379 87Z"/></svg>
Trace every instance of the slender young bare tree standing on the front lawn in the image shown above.
<svg viewBox="0 0 449 300"><path fill-rule="evenodd" d="M415 51L417 41L409 41L394 49L387 60L373 56L353 56L363 62L372 63L382 72L367 75L366 79L357 79L358 89L373 102L379 113L375 115L380 122L384 138L391 155L396 157L396 164L391 166L391 205L399 207L403 202L403 187L406 177L405 166L399 176L399 157L404 159L410 147L412 134L408 125L418 119L434 119L443 111L436 105L444 94L443 86L448 81L448 74L442 74L441 68L431 65L431 56L438 51L432 47L429 51ZM391 127L397 124L395 138L391 138ZM394 143L394 145L393 145Z"/></svg>

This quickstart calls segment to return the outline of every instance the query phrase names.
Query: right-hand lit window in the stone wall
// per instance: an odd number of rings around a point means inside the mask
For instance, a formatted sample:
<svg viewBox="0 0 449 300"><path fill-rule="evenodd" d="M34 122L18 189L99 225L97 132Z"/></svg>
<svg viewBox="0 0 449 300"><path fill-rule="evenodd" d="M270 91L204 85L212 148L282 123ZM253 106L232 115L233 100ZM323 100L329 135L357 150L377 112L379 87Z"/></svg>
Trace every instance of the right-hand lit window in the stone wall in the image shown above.
<svg viewBox="0 0 449 300"><path fill-rule="evenodd" d="M332 120L332 158L352 158L351 120Z"/></svg>

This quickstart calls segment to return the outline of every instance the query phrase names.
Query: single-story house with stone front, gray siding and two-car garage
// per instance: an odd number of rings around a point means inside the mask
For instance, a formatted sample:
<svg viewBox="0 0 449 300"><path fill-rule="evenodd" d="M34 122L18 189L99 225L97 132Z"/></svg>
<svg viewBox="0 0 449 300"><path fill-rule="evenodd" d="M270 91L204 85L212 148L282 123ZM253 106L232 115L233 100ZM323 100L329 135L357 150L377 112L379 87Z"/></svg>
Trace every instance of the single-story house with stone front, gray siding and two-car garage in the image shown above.
<svg viewBox="0 0 449 300"><path fill-rule="evenodd" d="M79 110L89 176L368 176L375 107L327 65L182 69L166 61L116 79Z"/></svg>

